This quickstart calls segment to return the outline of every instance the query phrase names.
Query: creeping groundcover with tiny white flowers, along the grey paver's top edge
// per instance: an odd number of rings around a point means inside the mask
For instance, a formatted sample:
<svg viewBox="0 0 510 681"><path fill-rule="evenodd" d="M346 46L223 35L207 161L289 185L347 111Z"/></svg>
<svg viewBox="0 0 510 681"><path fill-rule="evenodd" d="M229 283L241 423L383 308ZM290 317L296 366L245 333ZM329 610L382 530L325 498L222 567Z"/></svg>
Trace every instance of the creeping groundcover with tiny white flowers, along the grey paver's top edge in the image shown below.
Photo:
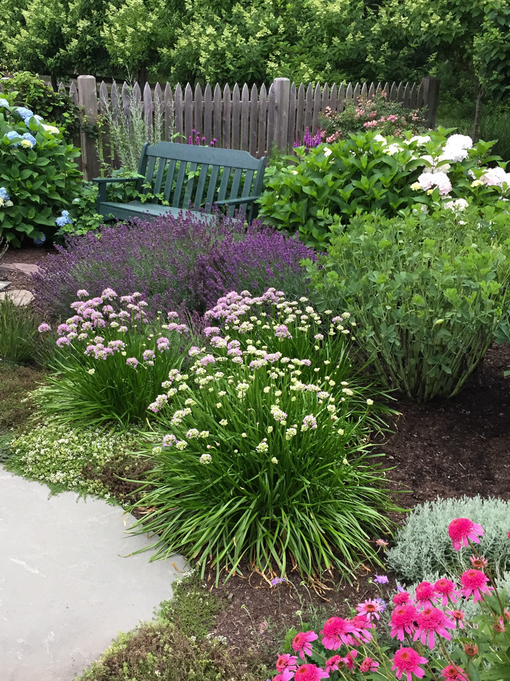
<svg viewBox="0 0 510 681"><path fill-rule="evenodd" d="M114 501L97 475L109 462L126 458L134 447L133 433L127 431L88 428L78 432L48 421L16 437L5 465L24 477L44 482L53 493L74 490Z"/></svg>

